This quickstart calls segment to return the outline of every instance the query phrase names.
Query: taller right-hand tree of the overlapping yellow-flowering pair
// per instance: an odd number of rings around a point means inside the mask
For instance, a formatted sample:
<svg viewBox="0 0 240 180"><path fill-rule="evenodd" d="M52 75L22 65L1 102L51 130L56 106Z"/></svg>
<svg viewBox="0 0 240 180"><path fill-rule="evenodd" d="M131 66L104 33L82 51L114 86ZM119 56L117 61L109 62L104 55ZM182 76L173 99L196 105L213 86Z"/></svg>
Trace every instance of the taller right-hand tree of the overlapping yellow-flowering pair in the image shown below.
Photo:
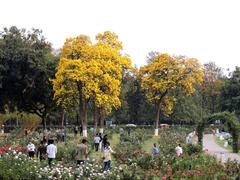
<svg viewBox="0 0 240 180"><path fill-rule="evenodd" d="M123 73L132 70L128 55L122 55L122 43L115 33L106 31L96 36L95 58L100 62L102 74L99 80L98 91L95 93L95 104L99 109L100 132L103 133L104 117L112 108L121 106L120 90Z"/></svg>

